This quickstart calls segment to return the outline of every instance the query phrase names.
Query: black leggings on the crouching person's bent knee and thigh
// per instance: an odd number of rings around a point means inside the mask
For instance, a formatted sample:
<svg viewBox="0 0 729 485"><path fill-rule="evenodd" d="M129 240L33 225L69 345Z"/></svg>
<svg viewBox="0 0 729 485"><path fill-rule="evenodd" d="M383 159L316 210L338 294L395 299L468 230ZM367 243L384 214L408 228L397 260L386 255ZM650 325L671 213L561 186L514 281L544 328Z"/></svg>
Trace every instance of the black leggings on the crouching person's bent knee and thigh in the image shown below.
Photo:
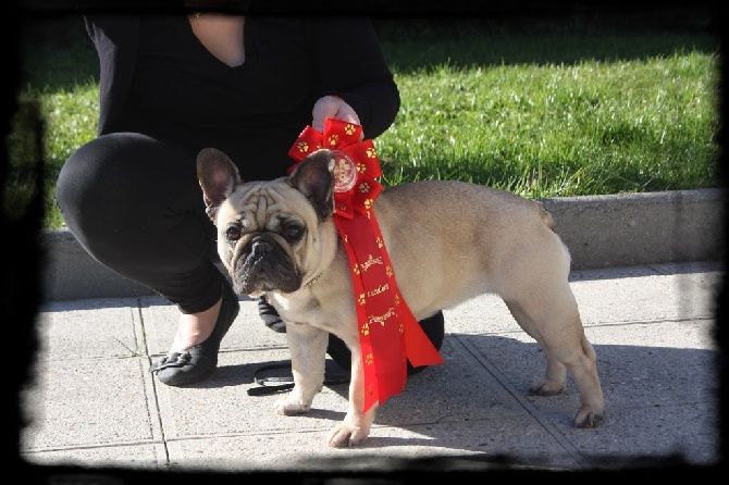
<svg viewBox="0 0 729 485"><path fill-rule="evenodd" d="M196 156L139 134L104 135L69 158L55 188L69 229L89 254L183 313L209 309L227 284L215 265Z"/></svg>

